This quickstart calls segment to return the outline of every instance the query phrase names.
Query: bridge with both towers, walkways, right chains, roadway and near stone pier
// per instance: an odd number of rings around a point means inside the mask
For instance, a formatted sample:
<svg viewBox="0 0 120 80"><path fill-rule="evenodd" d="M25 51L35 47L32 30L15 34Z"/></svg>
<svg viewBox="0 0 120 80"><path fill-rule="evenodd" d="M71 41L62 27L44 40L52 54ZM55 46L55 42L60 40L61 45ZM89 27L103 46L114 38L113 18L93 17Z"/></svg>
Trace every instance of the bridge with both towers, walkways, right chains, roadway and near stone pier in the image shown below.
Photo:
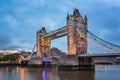
<svg viewBox="0 0 120 80"><path fill-rule="evenodd" d="M64 65L91 65L92 58L97 57L120 57L120 46L109 43L93 33L87 28L87 17L84 18L77 8L72 15L67 15L66 26L55 31L48 32L42 27L36 33L36 53L45 60L49 57L51 41L63 36L67 36L67 55L62 55L60 64ZM88 54L88 43L92 41L95 46L104 50L109 50L108 54ZM61 66L60 66L61 67Z"/></svg>

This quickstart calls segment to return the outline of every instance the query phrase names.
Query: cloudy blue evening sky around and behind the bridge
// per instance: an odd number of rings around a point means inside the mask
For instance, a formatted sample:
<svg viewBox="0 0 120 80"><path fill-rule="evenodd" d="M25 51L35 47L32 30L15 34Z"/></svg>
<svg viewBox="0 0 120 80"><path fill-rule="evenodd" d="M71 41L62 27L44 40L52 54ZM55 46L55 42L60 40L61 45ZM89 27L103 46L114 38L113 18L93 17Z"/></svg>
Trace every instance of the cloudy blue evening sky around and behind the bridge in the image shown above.
<svg viewBox="0 0 120 80"><path fill-rule="evenodd" d="M49 31L65 26L75 7L87 15L89 31L120 45L120 0L0 0L0 50L32 49L42 25ZM51 46L66 51L66 42L63 37Z"/></svg>

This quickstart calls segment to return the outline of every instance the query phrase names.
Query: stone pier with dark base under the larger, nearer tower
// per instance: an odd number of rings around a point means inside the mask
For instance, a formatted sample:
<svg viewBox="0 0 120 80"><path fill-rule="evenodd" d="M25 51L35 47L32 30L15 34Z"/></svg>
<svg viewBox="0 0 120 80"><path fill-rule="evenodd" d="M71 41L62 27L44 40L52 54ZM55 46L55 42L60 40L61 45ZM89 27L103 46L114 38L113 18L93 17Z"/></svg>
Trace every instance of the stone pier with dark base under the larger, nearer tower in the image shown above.
<svg viewBox="0 0 120 80"><path fill-rule="evenodd" d="M94 71L95 65L90 56L63 55L57 69L58 71Z"/></svg>

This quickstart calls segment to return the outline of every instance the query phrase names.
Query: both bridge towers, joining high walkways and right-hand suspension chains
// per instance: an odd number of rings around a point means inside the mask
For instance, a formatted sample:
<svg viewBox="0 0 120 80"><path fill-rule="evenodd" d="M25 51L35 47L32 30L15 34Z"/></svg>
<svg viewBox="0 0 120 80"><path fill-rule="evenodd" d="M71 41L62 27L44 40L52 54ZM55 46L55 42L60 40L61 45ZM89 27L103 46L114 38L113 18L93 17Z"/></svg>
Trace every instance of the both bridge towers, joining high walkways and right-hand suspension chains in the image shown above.
<svg viewBox="0 0 120 80"><path fill-rule="evenodd" d="M67 15L66 26L55 31L47 32L45 27L36 33L37 53L43 56L48 55L51 45L51 40L67 36L68 55L88 54L88 42L93 43L111 53L120 53L120 46L109 43L91 33L87 29L87 17L84 18L79 13L77 8L74 9L72 15ZM91 42L90 42L91 43Z"/></svg>

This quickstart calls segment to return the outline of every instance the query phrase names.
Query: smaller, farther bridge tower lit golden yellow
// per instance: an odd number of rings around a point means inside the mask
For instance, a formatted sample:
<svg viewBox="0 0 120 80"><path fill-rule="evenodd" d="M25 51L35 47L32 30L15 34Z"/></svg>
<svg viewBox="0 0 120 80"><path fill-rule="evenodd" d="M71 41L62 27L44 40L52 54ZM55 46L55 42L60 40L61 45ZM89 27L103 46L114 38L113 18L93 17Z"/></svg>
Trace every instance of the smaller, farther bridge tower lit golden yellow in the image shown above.
<svg viewBox="0 0 120 80"><path fill-rule="evenodd" d="M49 39L42 38L42 36L45 34L47 34L45 27L42 27L42 29L40 29L36 33L36 52L40 56L40 58L49 56L51 41Z"/></svg>

